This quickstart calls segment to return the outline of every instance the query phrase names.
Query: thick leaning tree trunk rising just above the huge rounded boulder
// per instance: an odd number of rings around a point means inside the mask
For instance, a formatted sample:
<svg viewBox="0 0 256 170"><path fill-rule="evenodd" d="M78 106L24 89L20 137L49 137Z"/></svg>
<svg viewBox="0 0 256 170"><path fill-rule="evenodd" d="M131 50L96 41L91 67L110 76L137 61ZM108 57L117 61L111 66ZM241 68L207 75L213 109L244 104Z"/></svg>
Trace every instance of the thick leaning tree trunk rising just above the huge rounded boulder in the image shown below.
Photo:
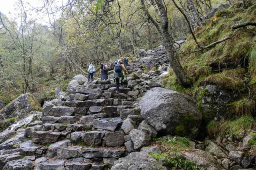
<svg viewBox="0 0 256 170"><path fill-rule="evenodd" d="M173 37L170 36L168 32L168 16L164 7L162 0L155 0L156 5L160 11L160 18L161 18L161 31L162 31L162 38L164 42L164 46L166 49L167 57L169 58L170 65L176 75L176 79L178 83L183 87L191 86L190 82L186 79L186 74L180 64L178 58L175 57L175 50L173 47Z"/></svg>

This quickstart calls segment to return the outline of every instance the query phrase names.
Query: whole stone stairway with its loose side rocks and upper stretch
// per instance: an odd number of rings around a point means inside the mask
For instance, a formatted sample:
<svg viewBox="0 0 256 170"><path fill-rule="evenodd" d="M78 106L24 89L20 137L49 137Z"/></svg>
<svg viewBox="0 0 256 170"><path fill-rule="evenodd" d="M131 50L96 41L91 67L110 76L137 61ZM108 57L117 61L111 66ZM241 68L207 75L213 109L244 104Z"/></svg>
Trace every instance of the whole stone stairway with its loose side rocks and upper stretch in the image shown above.
<svg viewBox="0 0 256 170"><path fill-rule="evenodd" d="M128 72L137 75L128 77L128 85L121 86L118 94L110 80L86 82L74 77L64 100L44 102L42 121L33 120L16 132L6 131L8 140L0 144L0 169L103 170L150 145L157 132L135 107L148 90L161 87L159 75L168 68L162 62L163 50L155 49L152 55L130 62ZM142 64L148 69L145 74ZM162 70L149 71L152 64ZM10 139L12 134L16 136Z"/></svg>

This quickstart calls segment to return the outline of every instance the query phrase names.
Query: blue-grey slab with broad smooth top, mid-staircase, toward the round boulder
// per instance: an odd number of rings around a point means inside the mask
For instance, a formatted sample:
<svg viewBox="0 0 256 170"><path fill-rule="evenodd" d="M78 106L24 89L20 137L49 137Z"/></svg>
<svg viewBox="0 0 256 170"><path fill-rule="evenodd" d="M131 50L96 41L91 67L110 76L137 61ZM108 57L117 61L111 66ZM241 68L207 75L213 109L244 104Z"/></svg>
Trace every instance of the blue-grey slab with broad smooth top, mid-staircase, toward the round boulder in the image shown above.
<svg viewBox="0 0 256 170"><path fill-rule="evenodd" d="M109 131L117 131L120 130L122 126L122 119L120 117L115 117L115 118L105 118L105 119L95 119L92 122L92 125L94 128L97 129L106 129Z"/></svg>

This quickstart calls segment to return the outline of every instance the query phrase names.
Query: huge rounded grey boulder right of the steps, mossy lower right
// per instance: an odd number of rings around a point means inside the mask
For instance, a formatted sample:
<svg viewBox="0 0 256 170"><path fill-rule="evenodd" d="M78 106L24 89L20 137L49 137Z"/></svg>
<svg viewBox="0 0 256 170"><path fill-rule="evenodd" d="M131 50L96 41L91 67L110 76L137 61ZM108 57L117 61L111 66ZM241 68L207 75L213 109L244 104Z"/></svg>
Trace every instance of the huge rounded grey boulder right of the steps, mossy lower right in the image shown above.
<svg viewBox="0 0 256 170"><path fill-rule="evenodd" d="M138 111L162 134L196 138L202 115L193 98L164 88L152 88L141 98Z"/></svg>

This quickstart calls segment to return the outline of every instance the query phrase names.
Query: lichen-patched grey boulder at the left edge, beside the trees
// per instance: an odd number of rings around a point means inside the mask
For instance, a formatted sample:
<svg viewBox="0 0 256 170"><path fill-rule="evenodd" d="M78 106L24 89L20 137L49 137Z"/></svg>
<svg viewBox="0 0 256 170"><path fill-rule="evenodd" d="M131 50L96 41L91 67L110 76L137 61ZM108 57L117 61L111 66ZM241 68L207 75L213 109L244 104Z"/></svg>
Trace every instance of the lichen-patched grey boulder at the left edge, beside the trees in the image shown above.
<svg viewBox="0 0 256 170"><path fill-rule="evenodd" d="M0 110L4 117L25 118L31 111L41 111L42 107L38 100L30 93L22 94L7 106Z"/></svg>

